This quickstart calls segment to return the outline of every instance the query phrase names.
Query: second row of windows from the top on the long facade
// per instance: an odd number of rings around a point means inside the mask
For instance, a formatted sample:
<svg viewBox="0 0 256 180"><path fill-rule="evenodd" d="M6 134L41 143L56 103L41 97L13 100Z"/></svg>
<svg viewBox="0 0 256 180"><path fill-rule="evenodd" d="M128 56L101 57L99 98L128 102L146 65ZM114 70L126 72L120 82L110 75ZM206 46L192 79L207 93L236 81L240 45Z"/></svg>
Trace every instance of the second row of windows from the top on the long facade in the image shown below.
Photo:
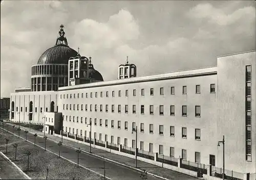
<svg viewBox="0 0 256 180"><path fill-rule="evenodd" d="M75 111L77 107L77 111L79 111L80 105L73 105L73 110ZM66 110L72 110L72 105L66 105ZM103 105L99 106L99 111L102 112L103 110ZM63 110L65 110L65 104L63 104ZM88 111L88 105L85 106L85 110ZM128 113L128 105L124 105L124 112ZM83 111L83 105L81 105L81 111ZM90 112L93 111L93 105L90 105ZM98 111L98 105L94 105L94 111ZM105 112L109 112L109 105L105 105ZM111 112L115 112L115 105L111 105ZM144 114L145 112L145 106L141 105L140 106L140 114ZM118 113L121 113L121 105L118 105ZM154 105L150 105L150 112L151 115L154 114ZM133 114L136 114L136 105L133 105ZM159 115L164 115L164 106L160 105L159 106ZM175 116L175 106L170 106L170 115ZM182 106L182 116L187 116L187 106ZM195 116L196 117L201 117L201 106L195 106Z"/></svg>

